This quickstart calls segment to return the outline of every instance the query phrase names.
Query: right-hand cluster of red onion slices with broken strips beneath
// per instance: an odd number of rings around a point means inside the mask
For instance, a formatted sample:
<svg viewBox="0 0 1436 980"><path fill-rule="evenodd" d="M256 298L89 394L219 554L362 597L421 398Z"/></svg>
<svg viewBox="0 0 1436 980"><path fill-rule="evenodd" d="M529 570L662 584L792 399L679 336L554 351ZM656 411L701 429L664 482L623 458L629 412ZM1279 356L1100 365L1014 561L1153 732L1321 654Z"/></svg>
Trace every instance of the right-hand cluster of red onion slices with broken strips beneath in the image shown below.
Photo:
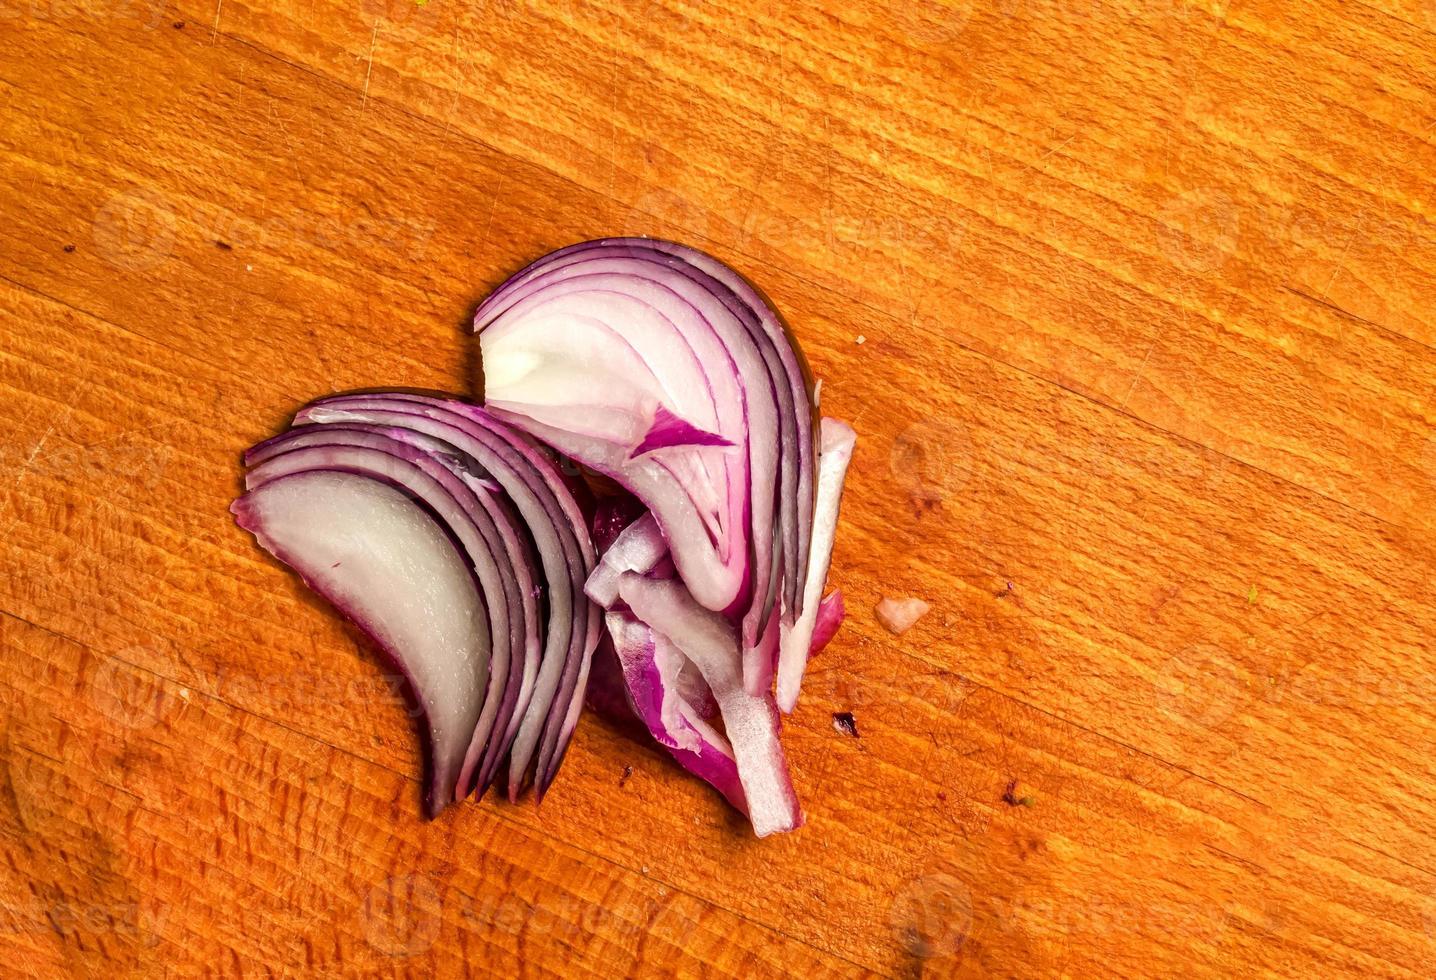
<svg viewBox="0 0 1436 980"><path fill-rule="evenodd" d="M817 391L787 325L711 256L610 239L534 262L474 326L490 411L649 512L605 542L586 585L615 650L642 664L623 671L639 717L682 747L672 711L642 708L655 690L686 703L662 670L671 647L717 701L754 829L797 826L777 708L841 619L823 586L854 435L823 420L816 445Z"/></svg>

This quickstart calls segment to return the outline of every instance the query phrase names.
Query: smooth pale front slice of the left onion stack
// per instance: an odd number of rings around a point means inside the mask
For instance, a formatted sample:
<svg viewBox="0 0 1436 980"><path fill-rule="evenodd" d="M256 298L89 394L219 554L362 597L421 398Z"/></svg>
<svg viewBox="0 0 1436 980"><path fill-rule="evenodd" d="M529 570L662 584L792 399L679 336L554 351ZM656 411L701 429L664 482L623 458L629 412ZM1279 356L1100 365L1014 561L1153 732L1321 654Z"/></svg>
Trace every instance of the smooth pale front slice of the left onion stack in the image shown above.
<svg viewBox="0 0 1436 980"><path fill-rule="evenodd" d="M452 539L392 486L350 473L277 477L234 503L241 527L359 624L422 714L434 816L452 799L488 672L488 624Z"/></svg>

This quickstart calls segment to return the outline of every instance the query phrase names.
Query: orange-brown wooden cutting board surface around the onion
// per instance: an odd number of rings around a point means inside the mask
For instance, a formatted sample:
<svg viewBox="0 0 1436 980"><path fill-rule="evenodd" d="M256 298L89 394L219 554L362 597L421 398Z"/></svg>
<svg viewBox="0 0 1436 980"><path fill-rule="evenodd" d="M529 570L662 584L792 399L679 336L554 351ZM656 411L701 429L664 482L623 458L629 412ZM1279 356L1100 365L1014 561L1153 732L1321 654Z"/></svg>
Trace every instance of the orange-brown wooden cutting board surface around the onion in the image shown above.
<svg viewBox="0 0 1436 980"><path fill-rule="evenodd" d="M0 973L1430 976L1433 32L6 0ZM763 285L859 431L788 836L593 717L541 809L424 822L382 667L227 513L616 233Z"/></svg>

